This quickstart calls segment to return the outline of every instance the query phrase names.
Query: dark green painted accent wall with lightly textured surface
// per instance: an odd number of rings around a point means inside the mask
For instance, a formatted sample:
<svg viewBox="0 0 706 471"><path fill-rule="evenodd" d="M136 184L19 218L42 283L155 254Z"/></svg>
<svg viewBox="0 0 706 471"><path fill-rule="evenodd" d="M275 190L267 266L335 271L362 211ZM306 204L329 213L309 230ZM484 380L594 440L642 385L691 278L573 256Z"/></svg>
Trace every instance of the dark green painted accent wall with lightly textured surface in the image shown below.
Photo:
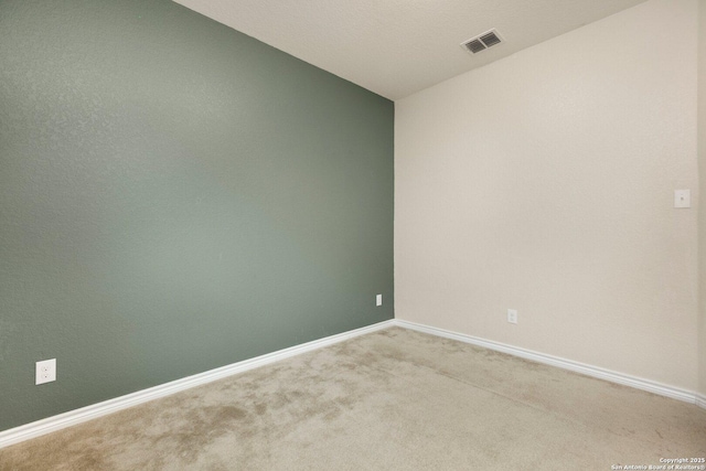
<svg viewBox="0 0 706 471"><path fill-rule="evenodd" d="M0 430L393 317L392 101L169 0L0 64Z"/></svg>

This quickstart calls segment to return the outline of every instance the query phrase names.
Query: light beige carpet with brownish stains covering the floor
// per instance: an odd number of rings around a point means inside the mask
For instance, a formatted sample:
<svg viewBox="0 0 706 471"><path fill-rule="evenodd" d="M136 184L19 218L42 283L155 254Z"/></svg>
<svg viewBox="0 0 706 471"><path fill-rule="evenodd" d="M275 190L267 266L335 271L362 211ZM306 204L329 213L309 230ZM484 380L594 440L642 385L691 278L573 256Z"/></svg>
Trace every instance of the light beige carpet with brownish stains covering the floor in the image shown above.
<svg viewBox="0 0 706 471"><path fill-rule="evenodd" d="M0 450L4 470L610 470L706 456L694 405L392 328Z"/></svg>

